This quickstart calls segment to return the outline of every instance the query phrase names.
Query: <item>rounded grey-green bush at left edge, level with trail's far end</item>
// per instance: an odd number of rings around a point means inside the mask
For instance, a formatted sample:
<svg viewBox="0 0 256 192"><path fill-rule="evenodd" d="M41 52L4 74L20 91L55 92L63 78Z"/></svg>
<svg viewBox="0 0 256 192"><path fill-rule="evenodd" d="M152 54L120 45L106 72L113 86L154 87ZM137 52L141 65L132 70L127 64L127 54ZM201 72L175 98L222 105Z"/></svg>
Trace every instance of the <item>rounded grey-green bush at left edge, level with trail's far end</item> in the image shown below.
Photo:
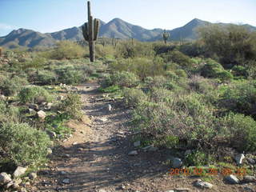
<svg viewBox="0 0 256 192"><path fill-rule="evenodd" d="M22 86L26 86L26 84L28 84L26 78L11 77L10 75L0 76L0 92L6 96L18 94Z"/></svg>

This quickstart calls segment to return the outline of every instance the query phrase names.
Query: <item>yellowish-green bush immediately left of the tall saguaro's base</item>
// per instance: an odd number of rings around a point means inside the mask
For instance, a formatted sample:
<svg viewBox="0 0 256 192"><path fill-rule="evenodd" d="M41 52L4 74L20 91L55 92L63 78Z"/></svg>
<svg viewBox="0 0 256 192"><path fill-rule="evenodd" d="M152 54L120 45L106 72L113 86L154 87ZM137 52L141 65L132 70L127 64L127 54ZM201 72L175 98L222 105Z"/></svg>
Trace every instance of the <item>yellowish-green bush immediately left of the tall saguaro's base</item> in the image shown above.
<svg viewBox="0 0 256 192"><path fill-rule="evenodd" d="M58 42L56 48L52 51L50 58L52 59L71 59L82 58L85 50L76 42L62 41Z"/></svg>

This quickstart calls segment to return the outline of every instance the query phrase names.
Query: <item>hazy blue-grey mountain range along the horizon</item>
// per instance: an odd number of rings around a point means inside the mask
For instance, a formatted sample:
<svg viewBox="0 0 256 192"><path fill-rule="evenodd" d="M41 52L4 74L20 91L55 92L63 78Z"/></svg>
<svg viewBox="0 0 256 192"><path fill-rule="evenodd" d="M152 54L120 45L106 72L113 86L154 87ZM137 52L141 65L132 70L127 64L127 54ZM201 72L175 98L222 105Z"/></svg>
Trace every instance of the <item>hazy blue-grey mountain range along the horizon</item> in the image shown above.
<svg viewBox="0 0 256 192"><path fill-rule="evenodd" d="M185 26L178 27L174 30L167 30L170 33L170 40L178 41L182 40L195 40L198 38L197 28L199 26L209 25L210 22L202 21L198 18L194 18L188 22ZM222 26L226 26L226 23L219 23ZM244 25L252 31L256 31L255 26L248 24ZM106 38L136 38L139 41L156 41L162 39L162 29L146 30L141 26L134 26L129 22L125 22L120 18L114 18L108 23L100 21L99 36ZM34 46L54 46L57 41L70 40L81 41L82 26L72 27L66 30L60 30L54 33L42 34L34 30L19 29L13 30L10 34L0 38L0 46L8 48L14 48L17 46L34 47Z"/></svg>

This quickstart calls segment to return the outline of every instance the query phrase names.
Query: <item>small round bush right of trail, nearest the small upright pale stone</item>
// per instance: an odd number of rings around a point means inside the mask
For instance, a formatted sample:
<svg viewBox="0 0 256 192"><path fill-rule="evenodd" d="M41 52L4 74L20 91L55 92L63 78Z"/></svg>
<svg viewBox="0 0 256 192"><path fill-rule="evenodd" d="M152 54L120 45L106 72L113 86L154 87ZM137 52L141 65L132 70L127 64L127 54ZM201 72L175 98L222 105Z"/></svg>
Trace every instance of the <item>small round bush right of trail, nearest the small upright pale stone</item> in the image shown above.
<svg viewBox="0 0 256 192"><path fill-rule="evenodd" d="M140 105L142 102L145 102L147 98L142 90L135 88L125 88L123 90L123 96L126 104L131 107Z"/></svg>

